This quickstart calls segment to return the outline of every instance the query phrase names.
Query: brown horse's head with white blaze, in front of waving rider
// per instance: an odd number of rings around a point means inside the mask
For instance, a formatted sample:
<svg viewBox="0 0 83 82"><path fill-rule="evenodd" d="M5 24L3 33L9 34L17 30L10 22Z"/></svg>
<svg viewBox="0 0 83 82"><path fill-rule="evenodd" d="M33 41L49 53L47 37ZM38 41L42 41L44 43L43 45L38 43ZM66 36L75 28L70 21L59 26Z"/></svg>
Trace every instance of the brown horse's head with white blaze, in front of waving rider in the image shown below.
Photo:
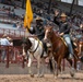
<svg viewBox="0 0 83 82"><path fill-rule="evenodd" d="M48 39L51 39L51 36L52 36L52 27L46 26L44 40L47 42Z"/></svg>

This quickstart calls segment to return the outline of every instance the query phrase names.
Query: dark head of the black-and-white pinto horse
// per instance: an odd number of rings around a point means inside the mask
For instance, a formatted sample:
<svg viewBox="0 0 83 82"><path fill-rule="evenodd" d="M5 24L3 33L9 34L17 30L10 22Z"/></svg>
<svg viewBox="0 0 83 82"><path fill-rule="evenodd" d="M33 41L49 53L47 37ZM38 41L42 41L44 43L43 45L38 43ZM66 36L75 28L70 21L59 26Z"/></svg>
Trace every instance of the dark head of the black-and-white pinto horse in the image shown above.
<svg viewBox="0 0 83 82"><path fill-rule="evenodd" d="M27 38L23 38L23 55L27 54L27 50L32 47L31 40Z"/></svg>

